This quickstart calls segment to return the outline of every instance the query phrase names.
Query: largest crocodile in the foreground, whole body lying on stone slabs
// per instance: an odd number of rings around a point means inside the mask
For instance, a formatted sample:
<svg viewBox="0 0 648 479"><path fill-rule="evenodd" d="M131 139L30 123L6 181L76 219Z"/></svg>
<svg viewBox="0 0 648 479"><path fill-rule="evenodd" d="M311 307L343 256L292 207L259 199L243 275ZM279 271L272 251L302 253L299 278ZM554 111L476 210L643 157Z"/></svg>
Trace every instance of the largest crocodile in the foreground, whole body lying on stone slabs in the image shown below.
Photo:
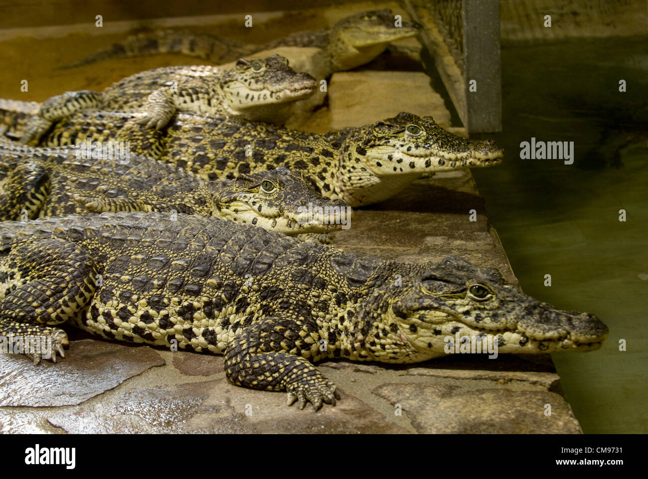
<svg viewBox="0 0 648 479"><path fill-rule="evenodd" d="M598 349L608 329L457 257L398 263L216 218L102 213L0 223L0 336L65 356L66 321L111 340L224 355L238 386L315 410L326 358L413 363L447 337L498 353ZM43 338L43 349L35 339Z"/></svg>

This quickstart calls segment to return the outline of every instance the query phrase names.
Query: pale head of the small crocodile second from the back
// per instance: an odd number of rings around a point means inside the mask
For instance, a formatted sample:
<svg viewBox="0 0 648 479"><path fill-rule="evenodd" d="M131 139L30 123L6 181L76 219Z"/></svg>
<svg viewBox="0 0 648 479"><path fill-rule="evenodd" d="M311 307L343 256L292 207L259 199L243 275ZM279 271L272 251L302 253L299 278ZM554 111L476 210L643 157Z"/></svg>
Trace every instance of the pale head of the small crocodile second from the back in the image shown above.
<svg viewBox="0 0 648 479"><path fill-rule="evenodd" d="M259 60L241 58L221 82L231 115L255 121L272 121L273 105L304 99L316 86L315 78L295 72L281 55Z"/></svg>

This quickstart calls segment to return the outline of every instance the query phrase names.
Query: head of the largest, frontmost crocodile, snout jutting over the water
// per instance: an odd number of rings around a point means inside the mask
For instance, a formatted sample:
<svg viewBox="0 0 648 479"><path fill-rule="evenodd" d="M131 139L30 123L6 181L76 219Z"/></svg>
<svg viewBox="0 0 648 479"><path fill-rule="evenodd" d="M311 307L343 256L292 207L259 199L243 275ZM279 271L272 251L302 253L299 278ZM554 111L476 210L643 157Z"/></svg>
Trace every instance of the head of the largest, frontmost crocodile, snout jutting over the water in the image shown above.
<svg viewBox="0 0 648 479"><path fill-rule="evenodd" d="M415 360L445 355L448 336L455 341L457 333L496 342L498 353L520 354L594 351L607 337L596 316L537 301L494 268L452 256L410 266L402 286L384 295L383 321L397 325L391 331Z"/></svg>

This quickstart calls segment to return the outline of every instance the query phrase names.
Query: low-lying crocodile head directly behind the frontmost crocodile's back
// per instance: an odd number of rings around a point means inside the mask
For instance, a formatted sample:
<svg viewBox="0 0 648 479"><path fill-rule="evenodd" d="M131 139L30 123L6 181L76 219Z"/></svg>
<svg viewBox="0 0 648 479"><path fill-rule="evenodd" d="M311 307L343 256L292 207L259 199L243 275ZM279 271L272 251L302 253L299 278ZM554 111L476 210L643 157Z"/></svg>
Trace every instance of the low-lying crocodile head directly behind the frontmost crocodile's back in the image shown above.
<svg viewBox="0 0 648 479"><path fill-rule="evenodd" d="M329 233L349 224L351 208L315 191L286 167L212 182L214 216L295 236Z"/></svg>

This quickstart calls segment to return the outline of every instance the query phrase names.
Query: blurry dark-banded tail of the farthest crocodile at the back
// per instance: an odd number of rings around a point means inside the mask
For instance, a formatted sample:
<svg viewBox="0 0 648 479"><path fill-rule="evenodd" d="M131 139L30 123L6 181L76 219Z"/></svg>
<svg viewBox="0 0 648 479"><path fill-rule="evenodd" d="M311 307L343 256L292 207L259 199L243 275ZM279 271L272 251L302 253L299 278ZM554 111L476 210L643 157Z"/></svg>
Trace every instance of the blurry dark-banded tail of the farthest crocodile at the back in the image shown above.
<svg viewBox="0 0 648 479"><path fill-rule="evenodd" d="M79 62L61 67L61 69L90 65L112 58L165 53L183 54L221 64L237 60L240 56L253 53L253 51L256 51L253 46L244 45L238 41L203 33L167 29L130 35L120 43L113 43L108 49L100 50Z"/></svg>

